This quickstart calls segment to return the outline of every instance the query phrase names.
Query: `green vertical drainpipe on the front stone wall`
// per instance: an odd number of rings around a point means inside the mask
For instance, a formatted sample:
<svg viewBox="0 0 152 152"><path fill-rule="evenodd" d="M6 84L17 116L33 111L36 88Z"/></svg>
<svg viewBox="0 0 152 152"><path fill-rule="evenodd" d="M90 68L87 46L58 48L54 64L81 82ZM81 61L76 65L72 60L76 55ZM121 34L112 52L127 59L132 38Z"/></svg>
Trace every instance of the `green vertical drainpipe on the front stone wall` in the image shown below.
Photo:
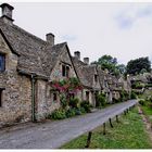
<svg viewBox="0 0 152 152"><path fill-rule="evenodd" d="M35 75L31 75L31 122L36 122L36 112L35 112Z"/></svg>

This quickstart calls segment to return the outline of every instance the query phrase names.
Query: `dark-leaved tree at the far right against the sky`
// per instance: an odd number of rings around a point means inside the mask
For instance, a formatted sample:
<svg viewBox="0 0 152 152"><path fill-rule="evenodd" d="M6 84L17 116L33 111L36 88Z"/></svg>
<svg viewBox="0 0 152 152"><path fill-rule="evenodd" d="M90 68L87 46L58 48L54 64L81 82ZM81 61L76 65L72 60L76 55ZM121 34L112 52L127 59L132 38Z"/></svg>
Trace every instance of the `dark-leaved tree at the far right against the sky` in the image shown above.
<svg viewBox="0 0 152 152"><path fill-rule="evenodd" d="M136 75L143 72L151 72L151 62L148 56L130 60L127 63L127 74Z"/></svg>

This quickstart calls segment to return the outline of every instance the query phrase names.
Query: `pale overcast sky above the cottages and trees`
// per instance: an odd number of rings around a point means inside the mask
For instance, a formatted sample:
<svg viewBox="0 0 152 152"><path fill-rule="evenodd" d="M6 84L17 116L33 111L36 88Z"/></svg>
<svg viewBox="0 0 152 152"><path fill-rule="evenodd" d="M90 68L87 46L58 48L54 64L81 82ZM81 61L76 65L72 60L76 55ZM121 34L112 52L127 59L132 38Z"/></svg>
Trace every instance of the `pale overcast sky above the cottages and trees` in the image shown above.
<svg viewBox="0 0 152 152"><path fill-rule="evenodd" d="M67 41L71 53L94 61L110 54L126 64L152 59L152 3L10 3L14 24L55 43Z"/></svg>

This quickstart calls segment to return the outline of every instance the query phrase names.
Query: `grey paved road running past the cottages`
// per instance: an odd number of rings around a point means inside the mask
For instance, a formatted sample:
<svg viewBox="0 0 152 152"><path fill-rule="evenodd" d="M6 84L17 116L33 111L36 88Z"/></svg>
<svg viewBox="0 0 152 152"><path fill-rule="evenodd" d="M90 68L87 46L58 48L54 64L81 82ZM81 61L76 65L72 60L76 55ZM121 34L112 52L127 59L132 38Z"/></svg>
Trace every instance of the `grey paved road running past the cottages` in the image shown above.
<svg viewBox="0 0 152 152"><path fill-rule="evenodd" d="M136 100L64 121L36 124L30 127L0 131L0 149L55 149L102 125L136 104Z"/></svg>

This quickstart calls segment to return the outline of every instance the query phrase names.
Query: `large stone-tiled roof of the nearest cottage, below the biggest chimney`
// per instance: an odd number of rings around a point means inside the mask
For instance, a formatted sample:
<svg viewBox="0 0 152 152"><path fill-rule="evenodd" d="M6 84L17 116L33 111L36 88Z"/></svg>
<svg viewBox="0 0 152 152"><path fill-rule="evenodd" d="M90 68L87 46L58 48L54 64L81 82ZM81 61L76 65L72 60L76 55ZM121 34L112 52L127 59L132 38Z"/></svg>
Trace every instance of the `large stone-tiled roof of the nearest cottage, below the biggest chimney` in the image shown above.
<svg viewBox="0 0 152 152"><path fill-rule="evenodd" d="M59 55L66 45L60 43L50 47L49 43L18 26L5 24L0 18L0 29L10 46L18 56L18 71L35 73L39 76L49 77Z"/></svg>

